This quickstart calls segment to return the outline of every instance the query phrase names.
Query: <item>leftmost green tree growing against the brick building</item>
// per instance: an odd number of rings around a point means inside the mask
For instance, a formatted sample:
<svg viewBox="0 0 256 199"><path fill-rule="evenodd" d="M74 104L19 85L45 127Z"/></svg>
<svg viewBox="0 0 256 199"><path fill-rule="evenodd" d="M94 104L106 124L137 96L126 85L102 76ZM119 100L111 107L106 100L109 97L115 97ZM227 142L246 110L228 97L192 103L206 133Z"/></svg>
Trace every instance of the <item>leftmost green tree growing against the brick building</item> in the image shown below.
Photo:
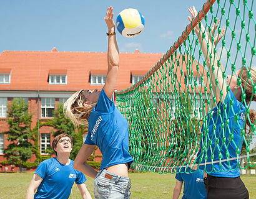
<svg viewBox="0 0 256 199"><path fill-rule="evenodd" d="M4 151L9 164L22 165L32 157L32 144L29 142L29 139L33 139L31 121L28 104L21 98L14 98L7 111L9 131L4 132L8 134L7 141L10 142Z"/></svg>

